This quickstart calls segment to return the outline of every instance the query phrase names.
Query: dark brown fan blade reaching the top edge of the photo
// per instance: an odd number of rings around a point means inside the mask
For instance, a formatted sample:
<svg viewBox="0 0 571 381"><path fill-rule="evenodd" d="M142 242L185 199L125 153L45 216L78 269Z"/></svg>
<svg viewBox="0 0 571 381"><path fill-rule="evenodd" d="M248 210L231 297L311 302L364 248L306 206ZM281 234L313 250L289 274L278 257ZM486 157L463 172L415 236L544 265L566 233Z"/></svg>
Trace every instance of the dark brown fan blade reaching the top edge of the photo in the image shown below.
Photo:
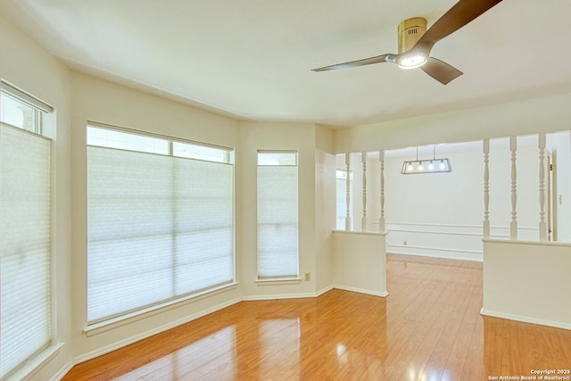
<svg viewBox="0 0 571 381"><path fill-rule="evenodd" d="M410 50L420 51L426 55L430 54L432 47L438 41L451 35L456 30L462 28L468 22L476 20L492 6L501 3L502 0L459 0L448 12L438 19L426 30L425 34L418 39L418 42Z"/></svg>

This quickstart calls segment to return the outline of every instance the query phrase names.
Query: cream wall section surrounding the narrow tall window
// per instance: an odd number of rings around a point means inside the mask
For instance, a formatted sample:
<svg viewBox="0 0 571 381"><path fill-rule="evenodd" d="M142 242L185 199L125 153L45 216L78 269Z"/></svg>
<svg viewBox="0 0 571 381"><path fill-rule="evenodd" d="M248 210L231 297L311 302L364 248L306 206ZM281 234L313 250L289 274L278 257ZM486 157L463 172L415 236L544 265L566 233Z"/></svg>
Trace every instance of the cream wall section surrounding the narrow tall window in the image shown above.
<svg viewBox="0 0 571 381"><path fill-rule="evenodd" d="M238 263L242 278L240 289L244 299L268 297L315 296L315 126L311 123L241 122L238 178L242 195L236 199L241 214L241 258ZM310 281L257 282L256 252L256 173L258 150L294 150L298 152L299 186L299 265L300 274L310 273Z"/></svg>

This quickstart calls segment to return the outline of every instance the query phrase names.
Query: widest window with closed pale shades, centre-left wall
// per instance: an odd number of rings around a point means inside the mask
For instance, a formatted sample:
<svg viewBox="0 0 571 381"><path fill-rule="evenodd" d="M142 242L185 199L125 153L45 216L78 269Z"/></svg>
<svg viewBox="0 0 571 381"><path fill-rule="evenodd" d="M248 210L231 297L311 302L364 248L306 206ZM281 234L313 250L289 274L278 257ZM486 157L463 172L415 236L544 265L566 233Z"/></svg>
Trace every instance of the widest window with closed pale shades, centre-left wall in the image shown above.
<svg viewBox="0 0 571 381"><path fill-rule="evenodd" d="M87 127L87 320L234 281L232 149Z"/></svg>

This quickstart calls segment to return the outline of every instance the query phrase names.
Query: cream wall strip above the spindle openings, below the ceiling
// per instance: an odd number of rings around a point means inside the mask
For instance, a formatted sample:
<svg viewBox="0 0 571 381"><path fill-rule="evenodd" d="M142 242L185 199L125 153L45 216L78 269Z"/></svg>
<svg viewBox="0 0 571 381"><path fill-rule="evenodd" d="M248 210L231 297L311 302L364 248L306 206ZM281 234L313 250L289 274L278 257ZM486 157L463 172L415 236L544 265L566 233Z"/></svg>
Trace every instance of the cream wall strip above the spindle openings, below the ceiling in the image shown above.
<svg viewBox="0 0 571 381"><path fill-rule="evenodd" d="M458 143L570 129L571 93L335 129L335 153Z"/></svg>

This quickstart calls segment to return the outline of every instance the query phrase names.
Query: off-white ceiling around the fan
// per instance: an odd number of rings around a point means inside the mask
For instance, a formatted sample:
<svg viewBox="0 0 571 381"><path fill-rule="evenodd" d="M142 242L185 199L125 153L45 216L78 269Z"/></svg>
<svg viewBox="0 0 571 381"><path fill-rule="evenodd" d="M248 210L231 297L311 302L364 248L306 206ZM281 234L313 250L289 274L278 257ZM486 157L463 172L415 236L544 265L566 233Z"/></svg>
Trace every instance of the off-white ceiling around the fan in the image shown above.
<svg viewBox="0 0 571 381"><path fill-rule="evenodd" d="M505 0L434 46L443 86L389 63L397 25L456 0L1 0L72 68L244 119L352 126L571 91L571 1Z"/></svg>

